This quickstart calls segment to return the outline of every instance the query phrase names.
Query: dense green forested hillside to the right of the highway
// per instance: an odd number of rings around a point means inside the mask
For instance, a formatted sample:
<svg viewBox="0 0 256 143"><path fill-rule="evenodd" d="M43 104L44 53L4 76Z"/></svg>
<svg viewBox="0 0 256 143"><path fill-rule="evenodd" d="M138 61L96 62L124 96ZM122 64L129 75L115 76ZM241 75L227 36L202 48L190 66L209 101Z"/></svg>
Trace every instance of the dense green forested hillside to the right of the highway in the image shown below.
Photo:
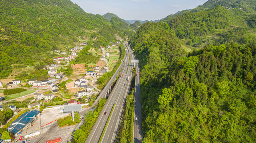
<svg viewBox="0 0 256 143"><path fill-rule="evenodd" d="M143 143L256 142L254 21L215 6L139 27Z"/></svg>

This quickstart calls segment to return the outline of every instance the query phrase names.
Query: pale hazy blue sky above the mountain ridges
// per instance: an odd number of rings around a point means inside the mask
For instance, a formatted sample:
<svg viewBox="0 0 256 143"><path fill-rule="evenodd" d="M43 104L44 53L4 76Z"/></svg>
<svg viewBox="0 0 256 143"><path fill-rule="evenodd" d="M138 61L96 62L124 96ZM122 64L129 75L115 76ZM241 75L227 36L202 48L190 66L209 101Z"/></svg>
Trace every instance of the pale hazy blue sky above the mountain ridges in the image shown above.
<svg viewBox="0 0 256 143"><path fill-rule="evenodd" d="M207 0L71 0L90 14L111 12L125 20L157 20L181 10L196 8Z"/></svg>

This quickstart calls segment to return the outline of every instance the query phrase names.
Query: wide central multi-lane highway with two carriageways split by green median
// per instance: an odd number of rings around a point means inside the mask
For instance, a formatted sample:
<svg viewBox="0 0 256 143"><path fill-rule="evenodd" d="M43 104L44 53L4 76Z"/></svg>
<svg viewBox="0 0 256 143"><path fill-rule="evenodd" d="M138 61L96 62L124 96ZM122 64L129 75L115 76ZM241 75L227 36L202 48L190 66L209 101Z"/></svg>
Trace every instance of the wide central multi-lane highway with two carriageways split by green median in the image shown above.
<svg viewBox="0 0 256 143"><path fill-rule="evenodd" d="M124 44L124 46L125 46L125 44ZM93 129L91 130L91 133L88 136L85 143L98 143L99 142L101 134L103 133L103 129L105 128L105 125L109 118L110 112L113 108L113 105L115 104L115 107L112 112L112 116L109 119L108 126L106 128L105 134L102 139L103 143L113 143L114 142L117 128L119 125L119 121L121 118L121 113L122 113L123 106L125 103L125 98L127 96L128 90L129 90L129 85L131 84L131 79L129 81L127 81L127 77L131 78L131 75L132 75L132 66L131 65L129 66L129 60L130 60L129 56L131 57L131 55L129 54L129 51L127 51L124 61L122 62L122 64L125 64L123 71L121 72L121 74L123 74L123 77L119 77L119 79L117 80L115 87L113 88L111 94L109 95L109 98L108 98L105 106L103 107L103 110L101 111L101 114L99 115L99 118L97 119L95 125L93 126ZM116 75L114 75L114 77L115 76ZM104 114L105 112L106 112L106 114Z"/></svg>

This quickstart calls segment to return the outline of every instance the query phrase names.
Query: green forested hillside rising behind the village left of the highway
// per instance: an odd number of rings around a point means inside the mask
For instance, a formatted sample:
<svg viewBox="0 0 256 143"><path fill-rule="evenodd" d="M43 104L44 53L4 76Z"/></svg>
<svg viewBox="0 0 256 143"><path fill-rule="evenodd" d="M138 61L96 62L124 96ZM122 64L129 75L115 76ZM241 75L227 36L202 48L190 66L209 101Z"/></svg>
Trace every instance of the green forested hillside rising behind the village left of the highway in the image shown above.
<svg viewBox="0 0 256 143"><path fill-rule="evenodd" d="M44 62L47 51L73 45L75 36L109 23L70 0L2 0L0 5L0 77L9 75L11 64Z"/></svg>

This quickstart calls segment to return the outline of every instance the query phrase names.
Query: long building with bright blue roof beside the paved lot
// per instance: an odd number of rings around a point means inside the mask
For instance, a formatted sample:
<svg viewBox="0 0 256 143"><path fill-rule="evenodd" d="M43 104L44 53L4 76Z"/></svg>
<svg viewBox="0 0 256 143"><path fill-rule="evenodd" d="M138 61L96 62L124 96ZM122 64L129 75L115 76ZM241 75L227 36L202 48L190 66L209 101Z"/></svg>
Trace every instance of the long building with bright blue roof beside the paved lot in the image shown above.
<svg viewBox="0 0 256 143"><path fill-rule="evenodd" d="M8 131L14 132L14 135L17 136L24 127L28 126L34 121L34 118L38 117L41 111L31 110L22 114L19 118L14 120L12 124L7 128Z"/></svg>

